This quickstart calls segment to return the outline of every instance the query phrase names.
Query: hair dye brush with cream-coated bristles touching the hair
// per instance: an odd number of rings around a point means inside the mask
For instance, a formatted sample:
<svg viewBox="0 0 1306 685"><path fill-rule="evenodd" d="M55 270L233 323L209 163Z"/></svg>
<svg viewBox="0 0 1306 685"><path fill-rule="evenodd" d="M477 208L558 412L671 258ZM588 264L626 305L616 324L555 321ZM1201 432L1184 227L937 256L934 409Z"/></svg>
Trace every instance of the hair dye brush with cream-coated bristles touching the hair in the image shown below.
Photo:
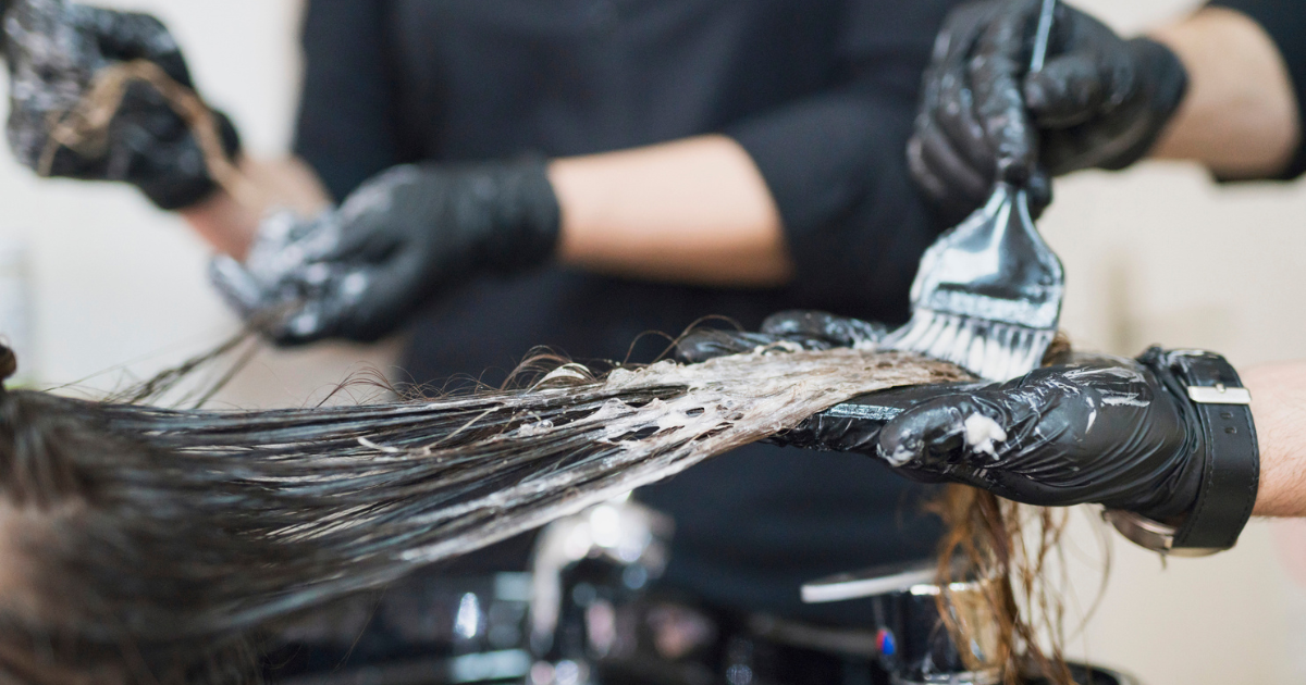
<svg viewBox="0 0 1306 685"><path fill-rule="evenodd" d="M1030 72L1042 69L1057 0L1043 0ZM999 181L989 202L921 258L912 320L884 347L952 361L1006 381L1038 367L1057 335L1066 277L1023 188Z"/></svg>

